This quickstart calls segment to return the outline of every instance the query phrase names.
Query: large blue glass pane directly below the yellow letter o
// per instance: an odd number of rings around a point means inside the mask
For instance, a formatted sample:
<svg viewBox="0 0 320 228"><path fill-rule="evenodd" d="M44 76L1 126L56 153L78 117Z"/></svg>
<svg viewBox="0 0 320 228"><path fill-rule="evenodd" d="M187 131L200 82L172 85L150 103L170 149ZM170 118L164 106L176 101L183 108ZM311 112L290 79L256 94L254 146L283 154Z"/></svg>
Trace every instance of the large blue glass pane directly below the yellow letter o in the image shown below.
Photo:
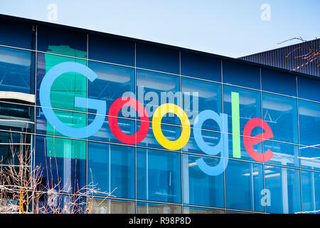
<svg viewBox="0 0 320 228"><path fill-rule="evenodd" d="M137 148L137 198L181 203L181 154Z"/></svg>

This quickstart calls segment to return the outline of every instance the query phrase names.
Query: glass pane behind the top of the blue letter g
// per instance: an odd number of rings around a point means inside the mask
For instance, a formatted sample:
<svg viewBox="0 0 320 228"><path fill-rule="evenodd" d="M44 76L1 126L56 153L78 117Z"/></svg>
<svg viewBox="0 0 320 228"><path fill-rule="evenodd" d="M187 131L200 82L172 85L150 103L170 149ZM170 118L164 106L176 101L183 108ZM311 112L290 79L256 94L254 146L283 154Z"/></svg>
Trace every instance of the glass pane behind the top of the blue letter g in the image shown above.
<svg viewBox="0 0 320 228"><path fill-rule="evenodd" d="M191 125L193 125L198 113L203 110L213 110L218 114L222 113L220 84L181 78L181 92L183 110L188 115ZM220 128L213 120L206 120L202 128L220 131Z"/></svg>

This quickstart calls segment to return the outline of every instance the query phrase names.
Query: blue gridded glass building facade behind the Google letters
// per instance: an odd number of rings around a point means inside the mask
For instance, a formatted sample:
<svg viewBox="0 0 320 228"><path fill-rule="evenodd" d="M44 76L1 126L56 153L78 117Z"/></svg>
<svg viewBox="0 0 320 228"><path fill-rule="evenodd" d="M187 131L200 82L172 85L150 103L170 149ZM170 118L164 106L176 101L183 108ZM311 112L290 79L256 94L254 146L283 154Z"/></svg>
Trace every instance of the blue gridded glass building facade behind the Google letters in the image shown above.
<svg viewBox="0 0 320 228"><path fill-rule="evenodd" d="M112 192L102 203L99 194L83 199L97 205L95 213L319 212L319 78L36 21L1 16L0 28L1 165L13 159L12 147L31 147L30 165L50 167L42 174L44 182L70 189L94 183ZM97 78L63 73L48 91L52 107L44 107L39 97L43 78L64 62L87 66ZM146 137L132 145L110 129L110 107L123 96L139 100L149 115ZM102 127L86 138L63 135L43 113L51 109L65 125L85 128L100 114L79 108L75 97L106 103ZM188 115L190 138L178 150L164 147L152 129L152 115L164 103ZM119 112L117 123L122 133L134 135L146 120L134 108L126 110ZM228 139L219 153L201 150L195 136L197 116L205 110L228 118L227 129L209 119L197 131L210 148ZM260 154L272 151L270 160L257 161L247 152L244 131L253 118L272 130L273 137L252 146ZM182 132L177 115L162 118L167 140L179 142ZM254 128L252 135L262 132ZM208 175L199 160L210 167L222 163L224 172Z"/></svg>

